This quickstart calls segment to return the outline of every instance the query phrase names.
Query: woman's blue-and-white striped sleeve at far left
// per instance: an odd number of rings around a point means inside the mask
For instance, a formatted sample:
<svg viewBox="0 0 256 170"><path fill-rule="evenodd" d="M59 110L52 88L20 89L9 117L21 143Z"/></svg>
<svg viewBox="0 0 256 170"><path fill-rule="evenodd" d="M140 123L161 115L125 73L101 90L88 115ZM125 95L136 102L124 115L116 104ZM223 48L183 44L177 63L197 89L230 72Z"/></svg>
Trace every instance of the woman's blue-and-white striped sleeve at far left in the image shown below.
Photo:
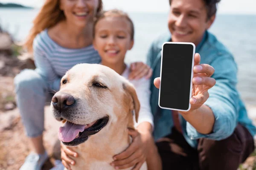
<svg viewBox="0 0 256 170"><path fill-rule="evenodd" d="M55 73L52 64L49 60L50 48L41 40L41 37L36 37L33 42L33 51L35 59L35 71L41 75L48 84L49 90L57 90L60 86L61 77Z"/></svg>

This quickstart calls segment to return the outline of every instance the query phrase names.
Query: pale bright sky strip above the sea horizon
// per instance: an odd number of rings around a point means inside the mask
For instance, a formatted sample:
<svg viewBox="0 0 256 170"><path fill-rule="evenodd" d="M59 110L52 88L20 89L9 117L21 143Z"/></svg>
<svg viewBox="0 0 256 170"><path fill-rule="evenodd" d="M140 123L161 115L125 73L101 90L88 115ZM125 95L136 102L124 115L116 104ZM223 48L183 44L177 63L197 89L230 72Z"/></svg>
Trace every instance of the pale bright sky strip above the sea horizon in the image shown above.
<svg viewBox="0 0 256 170"><path fill-rule="evenodd" d="M0 3L20 3L40 8L44 0L0 0ZM168 0L103 0L106 10L119 8L126 12L167 12ZM136 6L134 6L136 4ZM221 0L218 14L256 14L256 0Z"/></svg>

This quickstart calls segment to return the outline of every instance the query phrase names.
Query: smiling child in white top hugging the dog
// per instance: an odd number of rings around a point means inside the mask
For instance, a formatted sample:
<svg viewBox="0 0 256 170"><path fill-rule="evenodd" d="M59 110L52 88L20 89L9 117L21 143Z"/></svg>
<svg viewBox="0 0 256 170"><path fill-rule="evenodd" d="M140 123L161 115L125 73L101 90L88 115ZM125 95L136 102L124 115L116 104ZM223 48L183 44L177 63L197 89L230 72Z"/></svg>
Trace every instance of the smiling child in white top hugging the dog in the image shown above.
<svg viewBox="0 0 256 170"><path fill-rule="evenodd" d="M110 10L100 14L94 22L93 46L99 52L102 65L108 66L118 74L128 79L129 67L125 64L125 54L134 44L134 25L131 19L122 11ZM140 113L137 130L130 130L133 138L131 145L119 155L113 157L111 163L116 169L134 167L139 170L146 160L148 169L160 170L161 163L157 148L152 137L153 116L150 109L149 79L132 80L140 100ZM64 166L69 168L70 160L66 154L73 156L70 149L62 146L62 159ZM76 154L77 155L77 154Z"/></svg>

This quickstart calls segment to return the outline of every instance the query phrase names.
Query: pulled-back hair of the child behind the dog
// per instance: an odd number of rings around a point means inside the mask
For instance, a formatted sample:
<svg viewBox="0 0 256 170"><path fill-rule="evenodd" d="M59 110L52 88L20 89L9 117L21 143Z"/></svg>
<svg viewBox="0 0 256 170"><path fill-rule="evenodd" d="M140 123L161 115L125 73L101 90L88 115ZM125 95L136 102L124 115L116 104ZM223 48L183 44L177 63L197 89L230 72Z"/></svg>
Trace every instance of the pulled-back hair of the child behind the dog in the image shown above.
<svg viewBox="0 0 256 170"><path fill-rule="evenodd" d="M127 19L129 21L129 23L131 24L131 40L134 40L134 24L133 24L131 18L128 16L127 13L125 13L124 11L118 10L118 9L102 11L96 15L94 23L93 23L93 38L95 37L96 24L99 22L99 20L101 20L102 18L105 18L105 17L125 17L125 19Z"/></svg>

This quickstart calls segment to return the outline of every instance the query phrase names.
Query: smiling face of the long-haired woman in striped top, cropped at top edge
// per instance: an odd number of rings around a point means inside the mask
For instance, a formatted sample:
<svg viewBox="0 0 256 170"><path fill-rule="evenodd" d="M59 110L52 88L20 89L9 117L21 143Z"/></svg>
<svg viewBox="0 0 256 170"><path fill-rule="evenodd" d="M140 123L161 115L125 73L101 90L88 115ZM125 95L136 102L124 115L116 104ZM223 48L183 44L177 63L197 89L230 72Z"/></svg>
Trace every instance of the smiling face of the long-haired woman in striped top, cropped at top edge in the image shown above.
<svg viewBox="0 0 256 170"><path fill-rule="evenodd" d="M99 0L60 0L60 9L68 23L78 27L93 24Z"/></svg>

